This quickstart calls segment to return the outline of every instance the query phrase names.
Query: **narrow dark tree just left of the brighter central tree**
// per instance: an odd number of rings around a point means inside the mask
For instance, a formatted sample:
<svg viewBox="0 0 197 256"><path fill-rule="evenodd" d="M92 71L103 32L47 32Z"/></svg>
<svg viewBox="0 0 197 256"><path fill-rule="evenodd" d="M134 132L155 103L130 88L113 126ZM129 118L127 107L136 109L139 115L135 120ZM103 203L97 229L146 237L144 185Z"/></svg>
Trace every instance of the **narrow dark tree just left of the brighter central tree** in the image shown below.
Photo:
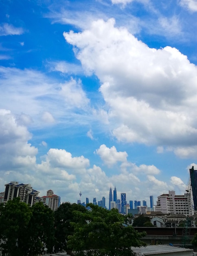
<svg viewBox="0 0 197 256"><path fill-rule="evenodd" d="M74 227L70 222L77 222L78 217L73 214L73 211L80 211L85 213L87 209L81 204L70 204L66 202L61 204L55 211L55 251L68 251L67 240L68 236L74 232Z"/></svg>

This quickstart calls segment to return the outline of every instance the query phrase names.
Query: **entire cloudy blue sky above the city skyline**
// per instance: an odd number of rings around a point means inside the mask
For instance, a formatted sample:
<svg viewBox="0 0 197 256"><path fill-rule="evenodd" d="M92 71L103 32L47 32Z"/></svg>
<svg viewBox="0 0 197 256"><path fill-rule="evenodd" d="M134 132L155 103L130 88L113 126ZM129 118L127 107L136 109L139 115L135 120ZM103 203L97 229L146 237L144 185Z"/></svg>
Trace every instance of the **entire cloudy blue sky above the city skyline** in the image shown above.
<svg viewBox="0 0 197 256"><path fill-rule="evenodd" d="M197 161L196 0L0 2L0 190L147 200Z"/></svg>

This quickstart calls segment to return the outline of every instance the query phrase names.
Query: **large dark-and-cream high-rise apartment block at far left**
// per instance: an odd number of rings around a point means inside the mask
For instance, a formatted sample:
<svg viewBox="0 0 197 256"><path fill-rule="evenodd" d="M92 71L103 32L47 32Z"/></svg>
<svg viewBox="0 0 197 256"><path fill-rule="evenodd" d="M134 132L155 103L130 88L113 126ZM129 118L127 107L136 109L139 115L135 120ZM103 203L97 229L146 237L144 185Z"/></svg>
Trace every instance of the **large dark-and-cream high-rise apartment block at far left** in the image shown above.
<svg viewBox="0 0 197 256"><path fill-rule="evenodd" d="M18 184L16 181L11 181L8 184L5 184L4 200L6 203L13 198L20 197L20 202L25 202L31 206L36 202L36 198L39 194L39 191L33 189L31 184Z"/></svg>

